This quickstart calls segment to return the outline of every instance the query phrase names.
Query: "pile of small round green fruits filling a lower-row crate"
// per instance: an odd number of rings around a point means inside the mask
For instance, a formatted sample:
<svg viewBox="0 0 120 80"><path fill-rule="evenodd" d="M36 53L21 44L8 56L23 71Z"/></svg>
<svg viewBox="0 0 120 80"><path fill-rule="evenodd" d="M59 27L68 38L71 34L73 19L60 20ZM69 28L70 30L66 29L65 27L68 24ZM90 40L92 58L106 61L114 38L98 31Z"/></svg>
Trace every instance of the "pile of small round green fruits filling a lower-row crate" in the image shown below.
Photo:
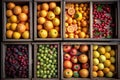
<svg viewBox="0 0 120 80"><path fill-rule="evenodd" d="M37 77L57 78L58 77L58 45L40 44L37 51Z"/></svg>

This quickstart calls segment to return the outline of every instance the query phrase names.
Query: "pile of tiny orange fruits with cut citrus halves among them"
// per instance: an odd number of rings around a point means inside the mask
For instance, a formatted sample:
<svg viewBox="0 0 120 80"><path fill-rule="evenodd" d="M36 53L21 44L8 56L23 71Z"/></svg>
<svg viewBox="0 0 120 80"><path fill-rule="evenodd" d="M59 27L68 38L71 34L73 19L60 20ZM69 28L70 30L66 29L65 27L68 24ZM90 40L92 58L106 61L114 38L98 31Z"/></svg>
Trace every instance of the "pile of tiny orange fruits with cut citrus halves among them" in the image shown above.
<svg viewBox="0 0 120 80"><path fill-rule="evenodd" d="M65 38L89 38L89 4L66 3Z"/></svg>

